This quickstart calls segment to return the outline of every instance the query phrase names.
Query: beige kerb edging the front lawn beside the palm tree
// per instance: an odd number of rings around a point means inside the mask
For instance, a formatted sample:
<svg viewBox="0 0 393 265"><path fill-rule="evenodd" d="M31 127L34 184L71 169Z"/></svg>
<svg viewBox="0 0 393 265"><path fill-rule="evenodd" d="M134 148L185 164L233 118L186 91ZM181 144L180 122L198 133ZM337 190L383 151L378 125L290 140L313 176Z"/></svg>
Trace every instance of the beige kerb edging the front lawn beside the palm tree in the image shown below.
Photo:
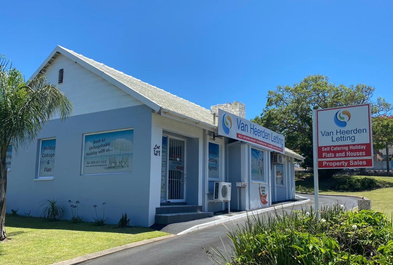
<svg viewBox="0 0 393 265"><path fill-rule="evenodd" d="M110 249L104 249L98 252L94 252L94 253L90 253L90 254L86 254L80 257L76 257L76 258L72 258L70 260L63 260L63 261L59 261L56 263L52 263L50 265L75 265L75 264L80 264L89 260L94 260L96 258L102 257L102 256L106 256L115 252L119 252L121 250L125 250L125 249L131 249L133 247L138 247L141 245L145 245L148 243L153 243L156 241L160 241L160 240L164 240L167 238L173 238L176 235L170 234L170 235L166 235L166 236L159 236L157 238L151 238L151 239L145 239L145 240L141 240L141 241L137 241L134 243L129 243L126 245L122 245L122 246L118 246L118 247L112 247Z"/></svg>

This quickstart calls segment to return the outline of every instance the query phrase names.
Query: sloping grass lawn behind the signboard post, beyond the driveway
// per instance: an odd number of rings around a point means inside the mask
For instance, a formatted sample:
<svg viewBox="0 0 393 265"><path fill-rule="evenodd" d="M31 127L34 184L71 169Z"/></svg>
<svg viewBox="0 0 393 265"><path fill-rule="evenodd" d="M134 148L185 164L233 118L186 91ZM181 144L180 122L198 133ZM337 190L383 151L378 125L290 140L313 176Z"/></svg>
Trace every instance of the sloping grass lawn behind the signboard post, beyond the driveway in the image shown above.
<svg viewBox="0 0 393 265"><path fill-rule="evenodd" d="M349 177L349 176L343 176ZM354 178L364 178L365 176L351 176ZM299 192L312 192L314 193L314 178L312 173L298 173L296 172L296 191ZM356 191L356 192L344 192L344 191L332 191L332 180L319 180L319 191L326 194L342 194L342 195L356 195L365 196L371 200L371 207L373 210L383 212L387 216L393 213L393 177L373 177L367 176L367 178L374 178L378 182L378 189L373 191Z"/></svg>

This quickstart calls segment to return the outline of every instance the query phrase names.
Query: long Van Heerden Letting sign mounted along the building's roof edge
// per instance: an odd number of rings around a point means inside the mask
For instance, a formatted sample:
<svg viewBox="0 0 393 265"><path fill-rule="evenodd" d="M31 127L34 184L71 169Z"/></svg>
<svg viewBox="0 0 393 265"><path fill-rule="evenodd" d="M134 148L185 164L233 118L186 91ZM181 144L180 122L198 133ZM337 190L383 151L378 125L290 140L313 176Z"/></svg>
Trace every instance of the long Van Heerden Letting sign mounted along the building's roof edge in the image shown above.
<svg viewBox="0 0 393 265"><path fill-rule="evenodd" d="M219 109L219 134L285 153L285 136Z"/></svg>

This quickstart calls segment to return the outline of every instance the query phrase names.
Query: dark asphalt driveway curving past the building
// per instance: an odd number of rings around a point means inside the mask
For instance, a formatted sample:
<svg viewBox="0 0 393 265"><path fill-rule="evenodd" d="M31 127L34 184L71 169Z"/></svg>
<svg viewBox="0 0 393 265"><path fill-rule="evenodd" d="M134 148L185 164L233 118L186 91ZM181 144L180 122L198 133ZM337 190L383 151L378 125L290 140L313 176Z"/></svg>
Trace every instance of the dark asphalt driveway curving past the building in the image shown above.
<svg viewBox="0 0 393 265"><path fill-rule="evenodd" d="M314 204L314 195L299 194L311 199L307 206ZM343 196L320 196L320 205L331 205L332 203L345 203L348 209L357 206L357 198ZM294 209L301 209L302 205L295 206ZM313 205L314 206L314 205ZM305 205L303 205L303 208ZM292 207L280 209L278 211L288 211ZM265 213L266 214L266 213ZM231 229L236 223L244 223L246 218L241 218L235 222L228 222L225 225ZM214 245L222 246L222 241L227 241L226 227L215 225L198 231L190 232L183 236L175 236L162 241L149 243L132 249L122 250L108 256L103 256L95 260L87 261L83 265L212 265L202 247L210 248Z"/></svg>

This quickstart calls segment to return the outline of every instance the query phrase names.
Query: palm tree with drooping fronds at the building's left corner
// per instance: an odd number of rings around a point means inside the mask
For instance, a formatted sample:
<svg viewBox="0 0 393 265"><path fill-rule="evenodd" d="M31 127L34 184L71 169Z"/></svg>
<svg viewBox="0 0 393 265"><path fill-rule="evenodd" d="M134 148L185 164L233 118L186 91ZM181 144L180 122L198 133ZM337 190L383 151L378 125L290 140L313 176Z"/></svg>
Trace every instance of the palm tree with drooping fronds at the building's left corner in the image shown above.
<svg viewBox="0 0 393 265"><path fill-rule="evenodd" d="M6 238L8 146L18 150L32 142L51 118L64 120L71 113L71 102L57 87L46 83L43 76L26 82L22 73L0 54L0 241Z"/></svg>

